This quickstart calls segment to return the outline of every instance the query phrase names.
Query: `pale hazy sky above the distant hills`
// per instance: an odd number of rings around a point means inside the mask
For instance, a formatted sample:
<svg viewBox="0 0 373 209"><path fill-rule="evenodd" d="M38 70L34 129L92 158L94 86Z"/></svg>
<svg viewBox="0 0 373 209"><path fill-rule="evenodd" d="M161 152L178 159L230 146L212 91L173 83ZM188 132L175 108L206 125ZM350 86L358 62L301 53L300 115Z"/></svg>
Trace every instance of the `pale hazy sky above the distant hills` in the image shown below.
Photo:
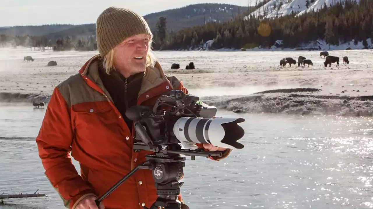
<svg viewBox="0 0 373 209"><path fill-rule="evenodd" d="M142 16L197 3L248 6L255 0L0 0L0 27L95 23L109 6L126 7ZM252 3L253 4L253 3Z"/></svg>

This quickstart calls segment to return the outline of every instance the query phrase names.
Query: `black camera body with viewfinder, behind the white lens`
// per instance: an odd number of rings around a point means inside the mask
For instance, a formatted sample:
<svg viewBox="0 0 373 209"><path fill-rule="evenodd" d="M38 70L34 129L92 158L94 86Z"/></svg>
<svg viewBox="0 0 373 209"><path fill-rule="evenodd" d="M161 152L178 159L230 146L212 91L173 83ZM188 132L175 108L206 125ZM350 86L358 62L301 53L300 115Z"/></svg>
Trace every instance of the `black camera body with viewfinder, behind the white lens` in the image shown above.
<svg viewBox="0 0 373 209"><path fill-rule="evenodd" d="M175 124L180 118L213 118L217 109L214 106L208 106L199 101L198 96L185 94L181 90L171 90L169 95L162 95L157 99L153 109L146 106L134 106L126 112L127 117L135 120L135 140L134 145L148 144L149 138L153 145L171 145L181 143L184 148L197 149L197 146L191 146L184 141L179 141L173 132ZM137 116L137 118L135 118ZM130 118L130 119L131 119ZM145 128L147 136L138 131L140 124ZM136 146L135 146L136 147ZM140 148L141 149L141 148ZM154 151L154 150L153 150Z"/></svg>

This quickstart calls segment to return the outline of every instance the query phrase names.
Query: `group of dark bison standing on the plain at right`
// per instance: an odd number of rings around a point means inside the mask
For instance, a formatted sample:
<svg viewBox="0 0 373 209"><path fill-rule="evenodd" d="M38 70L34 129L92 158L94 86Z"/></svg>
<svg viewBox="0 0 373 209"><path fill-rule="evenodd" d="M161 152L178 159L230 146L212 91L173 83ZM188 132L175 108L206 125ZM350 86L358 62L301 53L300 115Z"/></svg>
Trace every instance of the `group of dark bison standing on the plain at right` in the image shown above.
<svg viewBox="0 0 373 209"><path fill-rule="evenodd" d="M327 65L329 65L330 67L332 63L335 63L335 62L336 62L336 67L339 66L339 57L331 56L329 55L329 52L327 51L320 52L320 58L322 58L322 56L324 56L325 58L325 62L324 62L325 67L327 67ZM349 64L349 63L350 61L348 61L348 57L347 56L343 57L343 64ZM286 57L280 60L280 68L285 67L286 64L289 64L289 66L291 67L292 64L294 65L297 64L297 61L295 61L291 57ZM310 65L313 66L313 62L311 60L306 59L303 56L299 56L298 67L300 66L305 67L306 64L308 64L308 67L310 67Z"/></svg>

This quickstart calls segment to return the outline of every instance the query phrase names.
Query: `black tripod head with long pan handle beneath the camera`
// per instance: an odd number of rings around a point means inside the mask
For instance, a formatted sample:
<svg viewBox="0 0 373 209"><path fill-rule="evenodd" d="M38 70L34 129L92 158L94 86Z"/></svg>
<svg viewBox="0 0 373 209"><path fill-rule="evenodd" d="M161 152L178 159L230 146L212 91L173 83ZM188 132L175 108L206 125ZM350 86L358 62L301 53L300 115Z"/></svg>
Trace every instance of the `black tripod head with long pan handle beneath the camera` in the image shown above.
<svg viewBox="0 0 373 209"><path fill-rule="evenodd" d="M179 157L178 159L159 159L159 156L148 155L147 158L153 158L147 160L144 163L136 166L126 176L120 179L114 186L112 186L107 192L95 200L97 206L117 187L120 186L125 180L129 179L139 169L153 170L153 179L157 189L157 200L153 203L150 209L158 209L163 207L164 209L180 209L181 203L177 202L178 195L180 194L180 186L177 179L184 175L183 167L185 166L185 158ZM157 162L157 161L163 161ZM168 162L167 162L168 161ZM143 206L144 209L148 209Z"/></svg>

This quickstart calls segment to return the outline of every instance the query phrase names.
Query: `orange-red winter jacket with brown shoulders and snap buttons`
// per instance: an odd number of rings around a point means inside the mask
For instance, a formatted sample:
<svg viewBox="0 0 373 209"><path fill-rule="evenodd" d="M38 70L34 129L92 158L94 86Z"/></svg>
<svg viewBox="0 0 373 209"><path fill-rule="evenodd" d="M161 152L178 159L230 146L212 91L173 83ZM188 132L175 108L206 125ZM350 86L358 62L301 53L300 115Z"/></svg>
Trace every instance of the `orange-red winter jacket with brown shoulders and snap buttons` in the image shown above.
<svg viewBox="0 0 373 209"><path fill-rule="evenodd" d="M53 90L36 138L45 174L70 209L88 195L101 196L149 154L133 151L132 134L98 76L98 58ZM154 105L171 89L188 93L176 77L164 75L157 62L145 71L137 104ZM80 176L70 151L80 164ZM211 159L220 160L229 152ZM108 209L142 209L142 203L150 208L157 197L151 170L140 169L103 203Z"/></svg>

